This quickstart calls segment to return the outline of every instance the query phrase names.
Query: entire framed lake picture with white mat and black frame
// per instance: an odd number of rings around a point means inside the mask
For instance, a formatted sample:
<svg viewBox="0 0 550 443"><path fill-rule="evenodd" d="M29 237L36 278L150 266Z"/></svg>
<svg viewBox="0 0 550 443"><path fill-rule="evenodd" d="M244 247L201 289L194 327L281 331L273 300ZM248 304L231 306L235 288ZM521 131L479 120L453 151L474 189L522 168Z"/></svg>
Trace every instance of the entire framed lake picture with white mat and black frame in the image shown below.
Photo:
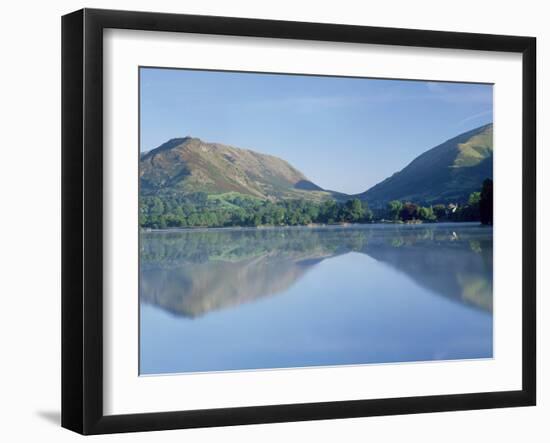
<svg viewBox="0 0 550 443"><path fill-rule="evenodd" d="M535 404L531 37L62 20L62 425Z"/></svg>

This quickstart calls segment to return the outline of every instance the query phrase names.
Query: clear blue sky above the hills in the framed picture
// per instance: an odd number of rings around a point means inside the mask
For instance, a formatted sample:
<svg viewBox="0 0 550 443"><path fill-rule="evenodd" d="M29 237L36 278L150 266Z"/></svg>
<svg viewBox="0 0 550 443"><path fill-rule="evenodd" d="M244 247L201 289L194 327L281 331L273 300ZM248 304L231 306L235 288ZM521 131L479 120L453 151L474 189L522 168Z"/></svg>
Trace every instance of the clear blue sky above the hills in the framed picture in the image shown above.
<svg viewBox="0 0 550 443"><path fill-rule="evenodd" d="M363 192L493 120L491 85L141 68L141 150L187 135Z"/></svg>

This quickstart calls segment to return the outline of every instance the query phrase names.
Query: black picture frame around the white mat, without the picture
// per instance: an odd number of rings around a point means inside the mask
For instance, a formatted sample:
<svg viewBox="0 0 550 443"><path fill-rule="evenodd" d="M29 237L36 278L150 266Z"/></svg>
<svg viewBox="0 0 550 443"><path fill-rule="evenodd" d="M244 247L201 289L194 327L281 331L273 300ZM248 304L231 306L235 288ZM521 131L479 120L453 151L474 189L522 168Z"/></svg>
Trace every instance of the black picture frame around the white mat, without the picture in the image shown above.
<svg viewBox="0 0 550 443"><path fill-rule="evenodd" d="M104 415L102 76L103 30L107 28L522 54L522 389ZM535 405L535 67L533 37L98 9L65 15L62 18L62 426L81 434L104 434Z"/></svg>

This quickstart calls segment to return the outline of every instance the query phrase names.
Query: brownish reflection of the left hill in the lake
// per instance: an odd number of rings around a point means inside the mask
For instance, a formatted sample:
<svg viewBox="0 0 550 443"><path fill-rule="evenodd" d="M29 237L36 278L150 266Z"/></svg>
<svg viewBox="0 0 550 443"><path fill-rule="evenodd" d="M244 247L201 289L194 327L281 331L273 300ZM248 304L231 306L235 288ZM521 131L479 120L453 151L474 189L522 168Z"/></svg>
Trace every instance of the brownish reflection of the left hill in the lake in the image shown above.
<svg viewBox="0 0 550 443"><path fill-rule="evenodd" d="M364 235L341 240L298 229L144 233L141 300L196 317L274 295L321 260L359 249Z"/></svg>

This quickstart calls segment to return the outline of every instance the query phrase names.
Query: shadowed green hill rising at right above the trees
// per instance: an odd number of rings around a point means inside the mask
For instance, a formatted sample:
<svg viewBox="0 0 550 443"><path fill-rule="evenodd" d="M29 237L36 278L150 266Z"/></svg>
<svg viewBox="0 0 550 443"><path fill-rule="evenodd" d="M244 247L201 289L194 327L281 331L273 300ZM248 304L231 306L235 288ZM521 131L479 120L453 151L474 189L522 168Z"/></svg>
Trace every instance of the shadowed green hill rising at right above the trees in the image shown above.
<svg viewBox="0 0 550 443"><path fill-rule="evenodd" d="M399 172L359 194L371 207L391 200L463 203L493 177L493 125L458 135L417 158Z"/></svg>

